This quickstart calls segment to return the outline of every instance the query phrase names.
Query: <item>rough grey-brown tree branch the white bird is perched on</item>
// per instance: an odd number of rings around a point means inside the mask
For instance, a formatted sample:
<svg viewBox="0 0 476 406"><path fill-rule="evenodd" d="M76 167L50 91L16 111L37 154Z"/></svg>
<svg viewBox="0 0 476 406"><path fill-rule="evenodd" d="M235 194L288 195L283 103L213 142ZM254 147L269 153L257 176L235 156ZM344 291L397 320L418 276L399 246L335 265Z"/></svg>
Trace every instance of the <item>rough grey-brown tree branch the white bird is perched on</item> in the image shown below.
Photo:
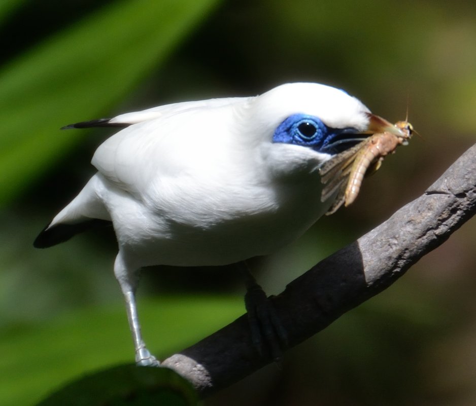
<svg viewBox="0 0 476 406"><path fill-rule="evenodd" d="M428 190L386 222L335 252L273 297L289 347L375 296L438 247L476 211L476 144ZM251 343L243 315L167 358L202 395L222 389L271 362Z"/></svg>

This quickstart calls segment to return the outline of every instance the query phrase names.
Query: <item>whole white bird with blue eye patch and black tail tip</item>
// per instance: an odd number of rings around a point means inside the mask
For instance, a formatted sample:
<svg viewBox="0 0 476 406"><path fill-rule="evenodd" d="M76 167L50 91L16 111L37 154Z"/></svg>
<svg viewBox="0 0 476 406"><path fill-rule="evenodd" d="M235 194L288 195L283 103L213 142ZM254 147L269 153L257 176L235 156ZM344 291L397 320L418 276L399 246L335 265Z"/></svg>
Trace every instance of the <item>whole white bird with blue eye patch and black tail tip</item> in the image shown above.
<svg viewBox="0 0 476 406"><path fill-rule="evenodd" d="M342 90L293 83L67 126L126 128L98 147L97 172L35 246L112 222L135 359L157 365L141 336L138 270L237 263L296 240L332 203L321 202L320 165L378 132L372 117Z"/></svg>

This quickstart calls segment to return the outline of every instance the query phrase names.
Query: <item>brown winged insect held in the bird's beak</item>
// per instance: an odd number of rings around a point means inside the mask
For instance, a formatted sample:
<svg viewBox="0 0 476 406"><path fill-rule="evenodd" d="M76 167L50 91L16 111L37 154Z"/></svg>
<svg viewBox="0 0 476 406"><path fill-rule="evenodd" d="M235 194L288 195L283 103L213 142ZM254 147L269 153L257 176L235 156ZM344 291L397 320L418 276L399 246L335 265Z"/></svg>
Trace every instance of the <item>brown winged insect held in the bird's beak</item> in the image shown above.
<svg viewBox="0 0 476 406"><path fill-rule="evenodd" d="M393 154L399 145L407 145L414 133L412 124L398 121L395 124L369 114L371 135L363 141L333 156L319 168L324 187L321 201L326 201L335 192L336 198L326 215L335 213L343 204L347 207L357 198L362 180L367 171L377 171L384 158ZM372 128L379 132L371 132Z"/></svg>

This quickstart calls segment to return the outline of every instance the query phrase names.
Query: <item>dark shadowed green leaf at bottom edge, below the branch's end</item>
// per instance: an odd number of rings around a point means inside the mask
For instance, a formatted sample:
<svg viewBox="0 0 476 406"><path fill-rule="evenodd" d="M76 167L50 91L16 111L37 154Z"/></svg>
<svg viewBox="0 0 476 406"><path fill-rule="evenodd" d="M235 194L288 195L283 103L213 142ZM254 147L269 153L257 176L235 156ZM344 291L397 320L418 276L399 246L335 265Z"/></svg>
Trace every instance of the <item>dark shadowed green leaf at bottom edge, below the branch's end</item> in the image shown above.
<svg viewBox="0 0 476 406"><path fill-rule="evenodd" d="M193 406L191 384L168 368L119 365L67 384L38 406Z"/></svg>

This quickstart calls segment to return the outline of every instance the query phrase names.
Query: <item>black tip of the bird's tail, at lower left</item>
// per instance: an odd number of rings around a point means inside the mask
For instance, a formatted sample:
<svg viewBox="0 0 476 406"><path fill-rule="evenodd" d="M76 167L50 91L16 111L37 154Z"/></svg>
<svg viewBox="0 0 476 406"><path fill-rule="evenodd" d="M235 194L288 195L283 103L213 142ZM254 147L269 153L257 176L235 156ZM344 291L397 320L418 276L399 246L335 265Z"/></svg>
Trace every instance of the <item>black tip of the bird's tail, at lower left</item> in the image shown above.
<svg viewBox="0 0 476 406"><path fill-rule="evenodd" d="M59 244L69 240L76 234L82 233L92 227L109 226L112 223L108 220L99 220L92 218L82 223L77 224L56 224L52 227L46 226L38 237L33 241L35 248L49 248L53 245Z"/></svg>

